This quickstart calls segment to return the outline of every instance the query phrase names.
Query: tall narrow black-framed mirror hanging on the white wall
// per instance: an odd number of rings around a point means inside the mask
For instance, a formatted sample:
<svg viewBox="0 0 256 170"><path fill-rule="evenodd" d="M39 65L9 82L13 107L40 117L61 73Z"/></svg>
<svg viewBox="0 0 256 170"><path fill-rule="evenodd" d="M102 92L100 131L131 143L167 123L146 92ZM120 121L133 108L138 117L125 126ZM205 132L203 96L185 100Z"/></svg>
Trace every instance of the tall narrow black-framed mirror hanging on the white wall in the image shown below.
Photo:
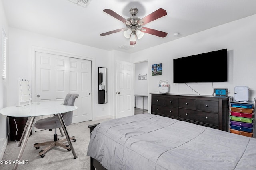
<svg viewBox="0 0 256 170"><path fill-rule="evenodd" d="M99 104L108 102L108 93L107 93L107 68L99 67L98 68L98 78L99 78Z"/></svg>

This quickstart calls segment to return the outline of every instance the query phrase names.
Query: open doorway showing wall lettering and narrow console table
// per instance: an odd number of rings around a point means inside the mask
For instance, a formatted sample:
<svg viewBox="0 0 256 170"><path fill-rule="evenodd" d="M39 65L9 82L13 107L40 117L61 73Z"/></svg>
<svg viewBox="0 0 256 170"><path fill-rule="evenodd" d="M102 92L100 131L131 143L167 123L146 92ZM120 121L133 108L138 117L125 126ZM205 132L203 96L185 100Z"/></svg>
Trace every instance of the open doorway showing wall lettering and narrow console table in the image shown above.
<svg viewBox="0 0 256 170"><path fill-rule="evenodd" d="M134 114L148 113L148 61L134 64Z"/></svg>

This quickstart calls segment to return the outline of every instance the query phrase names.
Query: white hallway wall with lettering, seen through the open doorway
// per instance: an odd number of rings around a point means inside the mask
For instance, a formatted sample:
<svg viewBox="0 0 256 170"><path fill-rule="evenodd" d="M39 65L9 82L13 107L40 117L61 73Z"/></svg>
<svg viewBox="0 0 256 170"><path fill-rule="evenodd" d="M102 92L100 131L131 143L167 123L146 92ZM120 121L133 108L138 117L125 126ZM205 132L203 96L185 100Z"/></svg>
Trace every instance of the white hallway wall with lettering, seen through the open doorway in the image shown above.
<svg viewBox="0 0 256 170"><path fill-rule="evenodd" d="M134 94L148 95L148 79L139 80L139 75L148 75L148 61L134 64ZM136 107L142 109L142 97L136 97ZM148 108L148 98L144 97L144 109Z"/></svg>

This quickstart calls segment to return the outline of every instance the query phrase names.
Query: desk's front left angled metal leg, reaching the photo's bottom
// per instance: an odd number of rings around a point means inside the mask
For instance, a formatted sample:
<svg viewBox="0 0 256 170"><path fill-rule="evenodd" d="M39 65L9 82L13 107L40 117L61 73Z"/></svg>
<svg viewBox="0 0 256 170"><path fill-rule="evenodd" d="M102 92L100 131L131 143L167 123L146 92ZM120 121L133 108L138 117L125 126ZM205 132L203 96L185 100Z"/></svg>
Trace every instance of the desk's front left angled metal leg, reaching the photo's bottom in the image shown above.
<svg viewBox="0 0 256 170"><path fill-rule="evenodd" d="M18 158L17 158L17 163L14 164L14 168L13 168L14 170L16 170L17 167L18 167L18 161L20 161L20 158L21 158L21 156L24 152L24 149L26 147L26 143L28 141L30 131L32 130L32 126L33 126L33 123L34 123L34 120L35 120L35 117L29 117L29 118L30 119L28 119L29 122L28 122L28 125L27 125L26 130L25 130L24 143L20 148L20 153L19 153Z"/></svg>

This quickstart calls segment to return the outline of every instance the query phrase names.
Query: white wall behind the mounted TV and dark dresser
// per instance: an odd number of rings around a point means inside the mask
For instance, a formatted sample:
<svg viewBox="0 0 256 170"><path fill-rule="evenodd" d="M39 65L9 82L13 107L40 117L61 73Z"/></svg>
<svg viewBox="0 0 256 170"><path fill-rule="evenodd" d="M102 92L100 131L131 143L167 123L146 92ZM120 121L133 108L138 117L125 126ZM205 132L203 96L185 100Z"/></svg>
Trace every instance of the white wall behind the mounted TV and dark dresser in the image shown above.
<svg viewBox="0 0 256 170"><path fill-rule="evenodd" d="M186 84L173 83L173 59L228 49L228 82L214 82L214 88L228 88L234 96L235 86L248 86L250 100L256 97L256 15L236 20L187 37L182 37L132 54L132 62L148 60L149 92L158 93L158 82L170 82L170 93L196 94ZM181 33L182 34L182 33ZM168 35L171 36L171 35ZM151 76L151 65L162 63L162 75ZM188 83L201 95L212 95L212 83ZM149 104L151 98L149 96ZM149 108L150 109L150 108Z"/></svg>

